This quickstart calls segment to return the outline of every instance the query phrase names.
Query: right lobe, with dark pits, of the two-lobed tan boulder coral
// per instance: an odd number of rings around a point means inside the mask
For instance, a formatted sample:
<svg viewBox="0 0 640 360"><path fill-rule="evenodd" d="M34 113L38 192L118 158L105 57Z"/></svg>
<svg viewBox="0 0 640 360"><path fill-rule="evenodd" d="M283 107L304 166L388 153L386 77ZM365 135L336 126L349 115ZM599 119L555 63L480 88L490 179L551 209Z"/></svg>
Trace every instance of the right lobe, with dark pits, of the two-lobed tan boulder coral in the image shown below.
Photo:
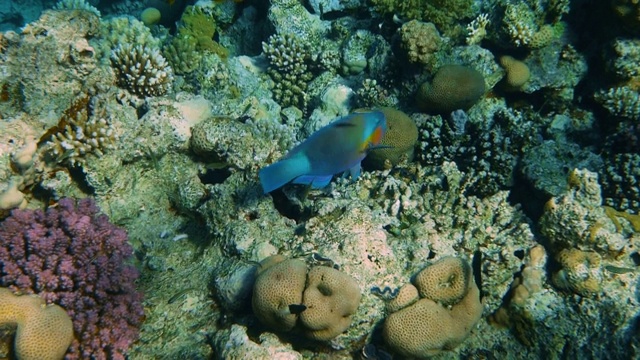
<svg viewBox="0 0 640 360"><path fill-rule="evenodd" d="M355 280L334 268L315 266L309 271L302 296L306 309L300 314L305 335L314 340L330 340L351 324L360 303Z"/></svg>

